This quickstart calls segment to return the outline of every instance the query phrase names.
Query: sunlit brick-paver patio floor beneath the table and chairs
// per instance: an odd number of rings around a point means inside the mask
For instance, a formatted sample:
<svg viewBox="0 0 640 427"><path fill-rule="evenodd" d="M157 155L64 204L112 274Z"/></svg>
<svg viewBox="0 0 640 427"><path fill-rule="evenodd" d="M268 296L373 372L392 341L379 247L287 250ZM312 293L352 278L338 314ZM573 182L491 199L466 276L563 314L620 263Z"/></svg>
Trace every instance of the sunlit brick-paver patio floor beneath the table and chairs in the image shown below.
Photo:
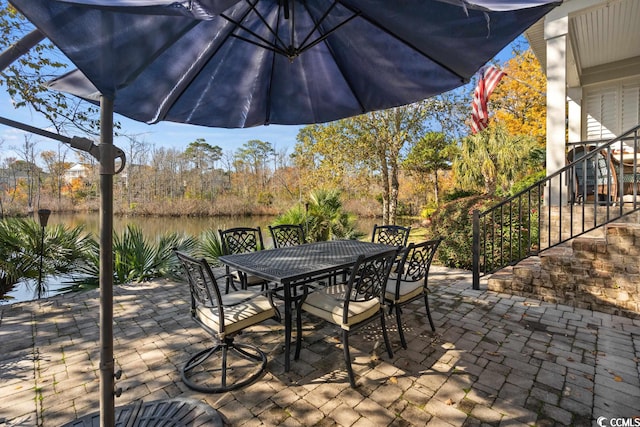
<svg viewBox="0 0 640 427"><path fill-rule="evenodd" d="M640 321L475 291L468 272L437 266L430 285L435 333L414 303L404 311L407 350L387 318L393 359L376 327L354 335L355 390L338 331L305 318L290 372L283 326L269 321L238 338L267 353L266 374L209 395L180 379L179 368L209 342L189 317L187 286L117 286L116 406L193 398L244 426L591 426L640 417ZM59 426L99 410L98 321L98 291L0 306L0 425Z"/></svg>

